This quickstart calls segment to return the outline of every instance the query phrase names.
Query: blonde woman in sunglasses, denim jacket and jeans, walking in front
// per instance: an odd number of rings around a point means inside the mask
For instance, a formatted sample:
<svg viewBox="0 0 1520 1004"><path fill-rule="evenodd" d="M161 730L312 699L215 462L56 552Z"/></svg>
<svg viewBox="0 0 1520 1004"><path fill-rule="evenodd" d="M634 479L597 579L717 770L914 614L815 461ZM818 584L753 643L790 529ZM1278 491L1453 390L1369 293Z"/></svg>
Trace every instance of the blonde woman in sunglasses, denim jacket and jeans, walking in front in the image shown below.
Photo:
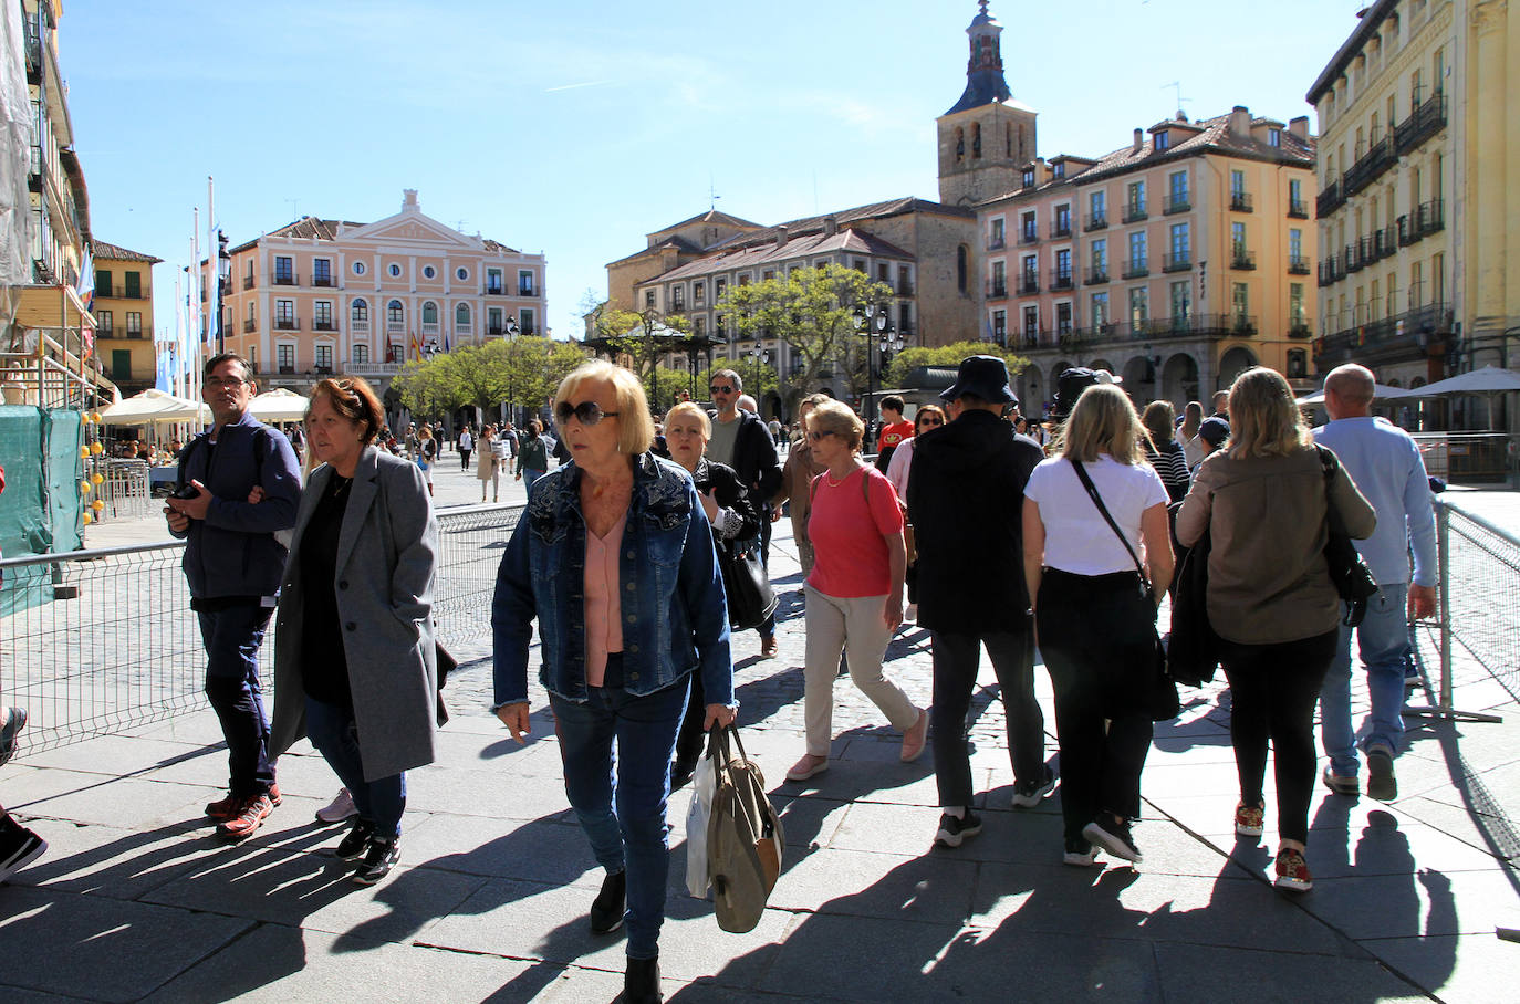
<svg viewBox="0 0 1520 1004"><path fill-rule="evenodd" d="M693 673L704 728L734 718L722 574L692 477L649 453L634 374L585 363L559 384L555 419L572 462L532 492L497 576L496 714L521 741L537 618L565 793L606 869L591 931L622 927L626 902L625 999L658 1001L670 755Z"/></svg>

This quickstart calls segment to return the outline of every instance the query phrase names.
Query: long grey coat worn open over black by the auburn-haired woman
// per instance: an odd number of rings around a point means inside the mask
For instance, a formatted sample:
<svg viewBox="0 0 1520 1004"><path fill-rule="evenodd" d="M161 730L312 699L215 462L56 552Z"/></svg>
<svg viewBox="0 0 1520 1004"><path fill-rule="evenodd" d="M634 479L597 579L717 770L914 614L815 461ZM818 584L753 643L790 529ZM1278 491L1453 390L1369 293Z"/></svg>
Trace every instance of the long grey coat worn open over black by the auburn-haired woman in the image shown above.
<svg viewBox="0 0 1520 1004"><path fill-rule="evenodd" d="M277 755L306 735L301 541L331 477L331 466L318 468L301 494L280 589L271 735ZM415 463L365 447L344 510L333 585L366 781L433 762L436 567L438 521L423 472Z"/></svg>

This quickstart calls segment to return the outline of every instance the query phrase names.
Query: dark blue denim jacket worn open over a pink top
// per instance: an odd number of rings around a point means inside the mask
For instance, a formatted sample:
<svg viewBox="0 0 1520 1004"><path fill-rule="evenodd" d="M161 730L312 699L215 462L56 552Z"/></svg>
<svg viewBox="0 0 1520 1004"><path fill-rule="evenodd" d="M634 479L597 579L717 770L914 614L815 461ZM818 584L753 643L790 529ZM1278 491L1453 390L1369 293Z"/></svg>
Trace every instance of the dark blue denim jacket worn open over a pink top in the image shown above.
<svg viewBox="0 0 1520 1004"><path fill-rule="evenodd" d="M581 469L567 463L534 485L502 556L491 603L496 706L527 700L535 617L540 682L556 697L585 703L585 533ZM652 453L634 457L619 582L628 693L652 694L699 670L707 703L733 703L728 608L713 533L692 477Z"/></svg>

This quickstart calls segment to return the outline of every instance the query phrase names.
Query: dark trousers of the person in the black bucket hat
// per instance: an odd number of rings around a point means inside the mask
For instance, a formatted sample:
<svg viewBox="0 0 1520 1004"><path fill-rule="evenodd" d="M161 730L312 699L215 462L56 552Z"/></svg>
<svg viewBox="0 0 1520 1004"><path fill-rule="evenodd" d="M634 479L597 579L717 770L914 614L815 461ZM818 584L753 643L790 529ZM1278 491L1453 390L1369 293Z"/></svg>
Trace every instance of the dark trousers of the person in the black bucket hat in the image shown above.
<svg viewBox="0 0 1520 1004"><path fill-rule="evenodd" d="M935 661L933 725L935 781L939 805L971 805L971 758L967 753L965 715L982 662L982 646L997 676L1008 729L1014 781L1044 778L1044 714L1035 700L1035 641L1031 630L959 635L932 632Z"/></svg>

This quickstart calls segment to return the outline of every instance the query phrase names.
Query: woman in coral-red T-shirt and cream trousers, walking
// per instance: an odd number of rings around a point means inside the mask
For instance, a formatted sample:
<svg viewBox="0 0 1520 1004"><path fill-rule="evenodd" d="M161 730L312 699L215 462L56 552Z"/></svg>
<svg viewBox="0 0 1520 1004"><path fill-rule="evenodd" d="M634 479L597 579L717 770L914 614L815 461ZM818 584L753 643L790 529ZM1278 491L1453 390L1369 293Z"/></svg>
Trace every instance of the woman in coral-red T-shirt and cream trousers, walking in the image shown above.
<svg viewBox="0 0 1520 1004"><path fill-rule="evenodd" d="M833 743L833 690L839 653L850 679L903 732L903 761L924 752L929 715L903 688L882 674L892 632L903 623L903 510L892 483L860 460L865 425L839 401L824 401L807 416L813 459L827 469L813 478L807 535L815 564L807 576L807 665L803 705L807 753L786 772L806 781L828 770Z"/></svg>

